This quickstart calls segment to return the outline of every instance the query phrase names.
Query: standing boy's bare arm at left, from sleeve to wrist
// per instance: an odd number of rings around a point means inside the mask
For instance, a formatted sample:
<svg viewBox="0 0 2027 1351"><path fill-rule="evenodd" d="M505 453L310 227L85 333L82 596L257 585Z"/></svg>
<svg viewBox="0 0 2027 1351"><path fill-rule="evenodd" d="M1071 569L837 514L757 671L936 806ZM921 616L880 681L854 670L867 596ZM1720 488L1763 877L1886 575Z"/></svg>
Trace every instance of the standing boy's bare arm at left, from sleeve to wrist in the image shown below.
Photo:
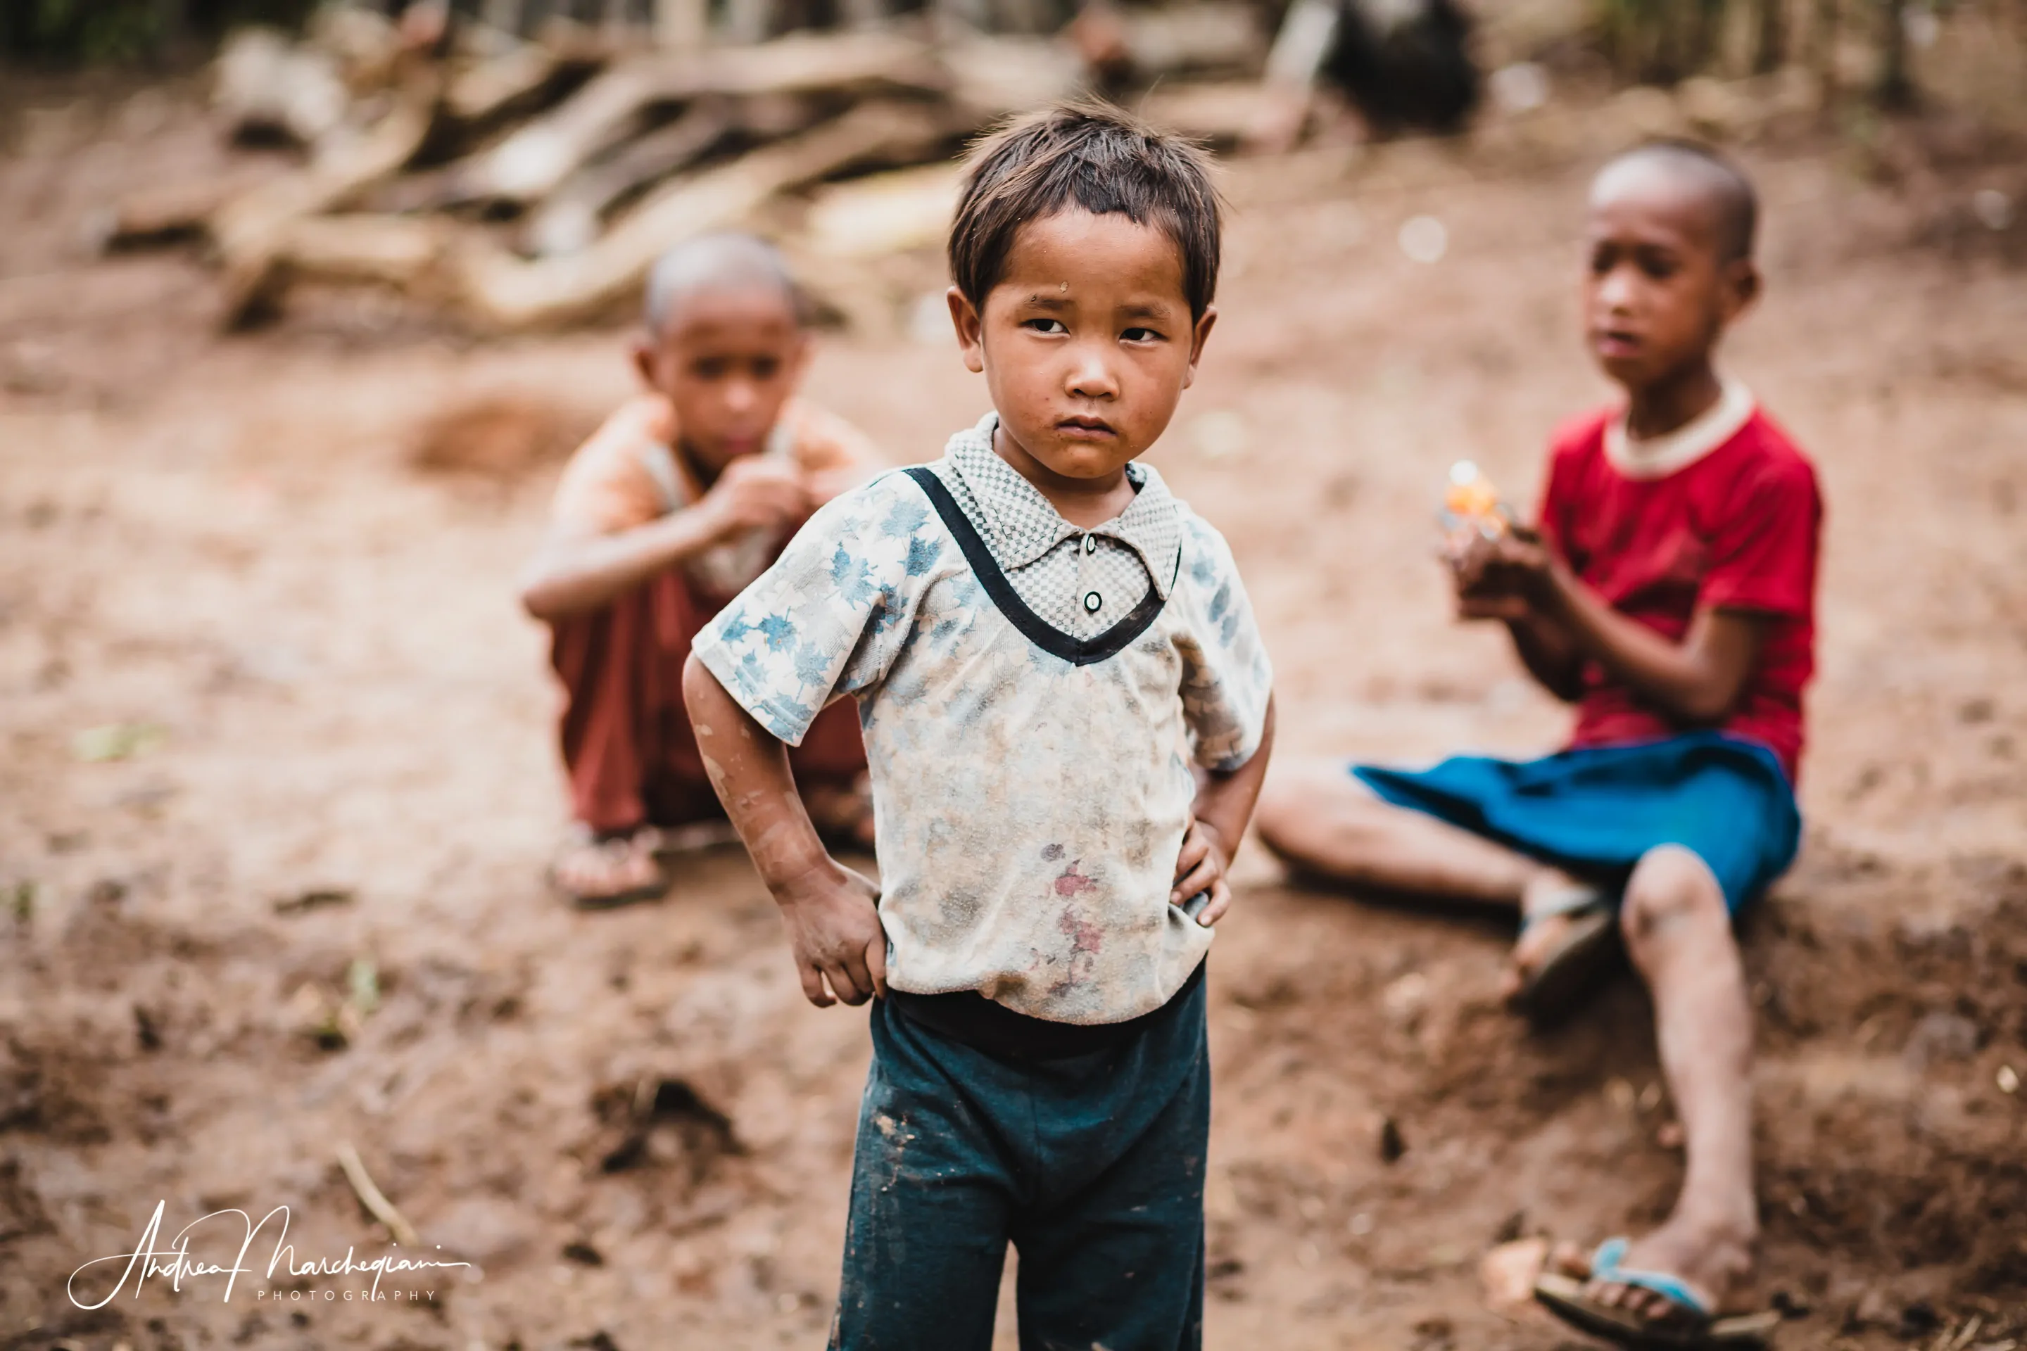
<svg viewBox="0 0 2027 1351"><path fill-rule="evenodd" d="M801 881L831 867L831 855L795 790L789 747L726 693L695 652L683 666L683 703L732 828L768 891L791 897Z"/></svg>

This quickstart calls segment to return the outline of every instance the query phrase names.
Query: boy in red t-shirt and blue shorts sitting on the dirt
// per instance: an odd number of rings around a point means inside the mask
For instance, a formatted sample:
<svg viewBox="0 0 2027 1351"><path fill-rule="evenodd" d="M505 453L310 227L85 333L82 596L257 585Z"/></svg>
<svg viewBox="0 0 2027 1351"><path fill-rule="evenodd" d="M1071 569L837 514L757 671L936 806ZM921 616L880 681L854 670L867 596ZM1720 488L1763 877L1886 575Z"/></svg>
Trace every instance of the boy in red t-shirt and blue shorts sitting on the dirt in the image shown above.
<svg viewBox="0 0 2027 1351"><path fill-rule="evenodd" d="M1311 766L1259 816L1299 869L1516 905L1510 995L1541 1015L1624 936L1654 995L1688 1173L1660 1229L1575 1260L1581 1286L1538 1290L1622 1341L1749 1331L1717 1319L1745 1292L1757 1236L1731 918L1800 839L1822 521L1808 460L1713 369L1759 290L1755 215L1747 178L1697 146L1605 166L1583 316L1626 407L1557 435L1538 535L1492 531L1453 559L1459 614L1504 620L1528 672L1577 703L1573 747L1419 774Z"/></svg>

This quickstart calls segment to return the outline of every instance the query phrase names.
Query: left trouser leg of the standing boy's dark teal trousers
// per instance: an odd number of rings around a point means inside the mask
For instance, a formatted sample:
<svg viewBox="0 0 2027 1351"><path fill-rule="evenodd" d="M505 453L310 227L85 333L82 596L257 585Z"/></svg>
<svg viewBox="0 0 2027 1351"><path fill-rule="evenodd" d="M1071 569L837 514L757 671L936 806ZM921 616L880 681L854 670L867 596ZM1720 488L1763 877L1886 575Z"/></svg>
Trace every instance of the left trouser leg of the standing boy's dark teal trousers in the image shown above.
<svg viewBox="0 0 2027 1351"><path fill-rule="evenodd" d="M955 1082L967 1053L888 1001L872 1033L831 1349L989 1351L1016 1179Z"/></svg>

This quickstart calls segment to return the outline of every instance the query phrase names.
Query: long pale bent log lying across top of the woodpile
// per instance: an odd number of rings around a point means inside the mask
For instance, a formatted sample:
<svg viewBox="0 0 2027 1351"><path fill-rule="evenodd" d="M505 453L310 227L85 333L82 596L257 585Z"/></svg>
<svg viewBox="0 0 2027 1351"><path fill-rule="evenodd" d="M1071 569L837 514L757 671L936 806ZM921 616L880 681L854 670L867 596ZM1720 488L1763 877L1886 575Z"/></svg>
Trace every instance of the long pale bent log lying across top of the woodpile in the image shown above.
<svg viewBox="0 0 2027 1351"><path fill-rule="evenodd" d="M941 87L928 49L892 32L799 34L709 55L641 57L614 65L555 111L458 164L454 194L456 201L541 201L580 166L639 132L655 107L707 93L866 95Z"/></svg>

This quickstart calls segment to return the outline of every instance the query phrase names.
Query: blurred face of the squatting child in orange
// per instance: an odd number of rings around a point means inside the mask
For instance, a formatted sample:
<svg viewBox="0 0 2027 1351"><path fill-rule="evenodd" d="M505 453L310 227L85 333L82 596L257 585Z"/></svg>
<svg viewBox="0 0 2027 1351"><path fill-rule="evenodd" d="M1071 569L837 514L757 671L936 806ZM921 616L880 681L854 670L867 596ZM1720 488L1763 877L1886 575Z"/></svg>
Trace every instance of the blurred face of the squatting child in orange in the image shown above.
<svg viewBox="0 0 2027 1351"><path fill-rule="evenodd" d="M793 302L764 286L685 296L634 344L641 379L675 405L683 450L707 474L766 446L807 359Z"/></svg>

